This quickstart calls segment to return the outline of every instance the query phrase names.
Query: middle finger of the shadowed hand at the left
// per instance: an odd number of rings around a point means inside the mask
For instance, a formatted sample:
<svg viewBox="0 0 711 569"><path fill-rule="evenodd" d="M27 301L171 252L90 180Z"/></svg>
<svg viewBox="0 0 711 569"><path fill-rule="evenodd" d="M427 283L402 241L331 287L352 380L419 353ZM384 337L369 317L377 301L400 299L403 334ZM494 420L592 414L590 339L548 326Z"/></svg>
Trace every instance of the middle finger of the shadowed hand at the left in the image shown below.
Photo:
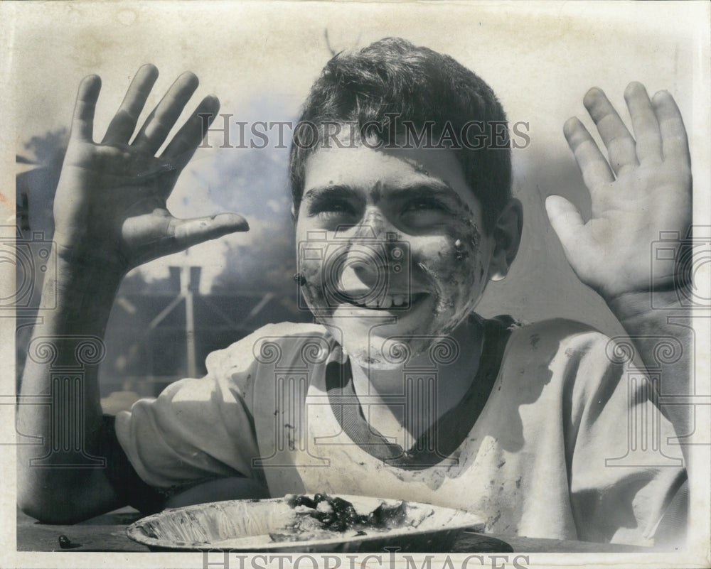
<svg viewBox="0 0 711 569"><path fill-rule="evenodd" d="M198 88L198 77L191 72L185 72L178 77L171 88L154 109L144 126L136 135L133 146L155 154L164 143L173 125L183 112L183 108Z"/></svg>

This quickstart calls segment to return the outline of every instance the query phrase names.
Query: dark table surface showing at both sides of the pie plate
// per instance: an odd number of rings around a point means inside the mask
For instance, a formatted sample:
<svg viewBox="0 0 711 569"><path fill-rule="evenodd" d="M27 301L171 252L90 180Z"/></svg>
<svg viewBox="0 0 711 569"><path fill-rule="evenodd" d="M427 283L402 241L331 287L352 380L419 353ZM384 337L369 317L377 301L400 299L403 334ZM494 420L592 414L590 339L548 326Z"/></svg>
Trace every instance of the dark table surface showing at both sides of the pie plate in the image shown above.
<svg viewBox="0 0 711 569"><path fill-rule="evenodd" d="M80 524L53 526L40 524L35 519L17 511L17 551L149 551L146 546L130 540L126 528L141 514L132 508L122 508L103 514ZM60 547L64 536L65 548ZM505 543L501 543L501 542ZM564 541L558 539L527 538L498 534L465 532L451 553L632 553L651 551L647 548Z"/></svg>

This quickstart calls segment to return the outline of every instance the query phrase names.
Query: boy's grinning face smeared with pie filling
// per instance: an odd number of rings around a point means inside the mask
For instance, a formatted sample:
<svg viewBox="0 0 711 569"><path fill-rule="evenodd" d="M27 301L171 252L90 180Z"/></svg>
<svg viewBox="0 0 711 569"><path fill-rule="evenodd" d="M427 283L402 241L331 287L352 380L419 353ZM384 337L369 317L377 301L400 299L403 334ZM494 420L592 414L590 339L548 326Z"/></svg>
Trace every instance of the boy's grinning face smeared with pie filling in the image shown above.
<svg viewBox="0 0 711 569"><path fill-rule="evenodd" d="M493 251L452 151L362 144L308 158L296 243L309 308L376 368L393 367L402 344L419 354L454 330L481 297Z"/></svg>

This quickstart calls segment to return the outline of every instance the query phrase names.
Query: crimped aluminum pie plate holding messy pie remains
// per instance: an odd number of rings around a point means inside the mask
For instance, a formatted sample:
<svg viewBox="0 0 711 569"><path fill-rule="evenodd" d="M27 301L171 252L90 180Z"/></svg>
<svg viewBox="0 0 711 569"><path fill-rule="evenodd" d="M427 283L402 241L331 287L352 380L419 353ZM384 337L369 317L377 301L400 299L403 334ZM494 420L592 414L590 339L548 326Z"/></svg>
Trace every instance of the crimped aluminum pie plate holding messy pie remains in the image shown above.
<svg viewBox="0 0 711 569"><path fill-rule="evenodd" d="M308 495L308 494L307 494ZM464 529L483 530L480 516L468 511L442 508L430 504L380 499L347 494L332 494L351 502L358 514L369 514L380 504L397 506L405 503L405 523L395 529L365 528L365 535L355 529L345 532L323 532L306 541L274 541L270 533L285 533L298 521L297 510L287 498L264 500L228 500L169 509L147 516L127 529L129 538L153 551L245 551L245 552L365 552L384 551L449 551ZM330 537L330 534L333 537Z"/></svg>

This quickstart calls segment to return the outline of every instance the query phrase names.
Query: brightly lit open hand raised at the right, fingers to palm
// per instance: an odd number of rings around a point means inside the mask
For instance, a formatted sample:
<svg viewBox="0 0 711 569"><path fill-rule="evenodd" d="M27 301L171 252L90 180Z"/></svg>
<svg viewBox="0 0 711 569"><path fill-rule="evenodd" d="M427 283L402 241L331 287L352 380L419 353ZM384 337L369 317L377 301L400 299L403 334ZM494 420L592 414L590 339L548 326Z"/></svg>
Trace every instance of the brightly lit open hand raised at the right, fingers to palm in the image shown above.
<svg viewBox="0 0 711 569"><path fill-rule="evenodd" d="M590 191L591 219L584 222L565 197L551 195L545 202L568 262L608 302L625 293L673 288L673 274L655 274L651 282L651 244L662 231L685 237L692 221L688 141L673 97L661 91L650 100L643 85L633 82L625 99L636 139L602 90L584 97L609 161L577 118L564 126Z"/></svg>

